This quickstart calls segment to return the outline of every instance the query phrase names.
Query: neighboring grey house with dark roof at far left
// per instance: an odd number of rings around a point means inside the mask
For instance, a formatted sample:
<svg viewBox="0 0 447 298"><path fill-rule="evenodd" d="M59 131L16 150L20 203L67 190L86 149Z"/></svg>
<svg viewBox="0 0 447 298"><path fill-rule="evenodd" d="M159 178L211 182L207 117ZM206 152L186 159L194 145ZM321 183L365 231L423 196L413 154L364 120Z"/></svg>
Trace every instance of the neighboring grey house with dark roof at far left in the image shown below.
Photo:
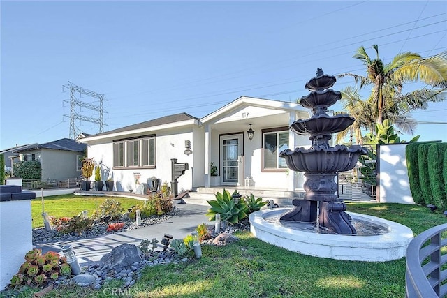
<svg viewBox="0 0 447 298"><path fill-rule="evenodd" d="M82 158L86 144L75 140L61 139L45 144L34 144L16 150L22 161L40 161L42 180L80 177Z"/></svg>

